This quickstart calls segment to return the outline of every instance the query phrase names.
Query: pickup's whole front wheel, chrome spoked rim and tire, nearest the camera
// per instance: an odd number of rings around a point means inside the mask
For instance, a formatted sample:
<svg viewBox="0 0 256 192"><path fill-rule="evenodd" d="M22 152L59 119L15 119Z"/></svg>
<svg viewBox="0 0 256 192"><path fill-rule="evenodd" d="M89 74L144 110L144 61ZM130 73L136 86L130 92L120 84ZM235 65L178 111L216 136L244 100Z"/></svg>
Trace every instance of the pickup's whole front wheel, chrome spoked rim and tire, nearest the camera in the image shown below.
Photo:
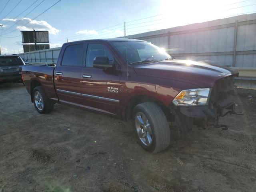
<svg viewBox="0 0 256 192"><path fill-rule="evenodd" d="M152 153L166 149L170 144L170 128L162 109L153 102L138 104L133 111L133 123L138 142Z"/></svg>

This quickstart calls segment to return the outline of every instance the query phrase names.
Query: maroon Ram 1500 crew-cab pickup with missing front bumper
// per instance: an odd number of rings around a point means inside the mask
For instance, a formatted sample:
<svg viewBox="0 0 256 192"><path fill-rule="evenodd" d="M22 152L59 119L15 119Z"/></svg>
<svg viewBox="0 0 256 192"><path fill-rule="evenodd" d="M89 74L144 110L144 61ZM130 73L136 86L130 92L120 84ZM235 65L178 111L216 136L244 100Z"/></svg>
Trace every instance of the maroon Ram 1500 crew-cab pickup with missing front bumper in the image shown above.
<svg viewBox="0 0 256 192"><path fill-rule="evenodd" d="M65 43L56 67L24 66L22 76L39 113L62 103L132 120L140 145L159 152L170 143L168 122L186 133L234 113L238 72L117 38Z"/></svg>

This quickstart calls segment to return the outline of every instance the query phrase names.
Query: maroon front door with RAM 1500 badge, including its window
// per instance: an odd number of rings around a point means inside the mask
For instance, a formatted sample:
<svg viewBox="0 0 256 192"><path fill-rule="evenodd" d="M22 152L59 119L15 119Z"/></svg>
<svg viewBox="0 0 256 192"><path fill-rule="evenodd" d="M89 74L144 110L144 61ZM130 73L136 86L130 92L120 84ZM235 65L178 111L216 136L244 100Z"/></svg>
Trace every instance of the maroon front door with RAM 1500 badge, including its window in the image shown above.
<svg viewBox="0 0 256 192"><path fill-rule="evenodd" d="M86 47L86 62L81 70L84 105L93 110L109 114L120 114L121 67L106 45L88 42ZM94 68L94 58L102 56L107 56L109 62L115 62L115 68Z"/></svg>

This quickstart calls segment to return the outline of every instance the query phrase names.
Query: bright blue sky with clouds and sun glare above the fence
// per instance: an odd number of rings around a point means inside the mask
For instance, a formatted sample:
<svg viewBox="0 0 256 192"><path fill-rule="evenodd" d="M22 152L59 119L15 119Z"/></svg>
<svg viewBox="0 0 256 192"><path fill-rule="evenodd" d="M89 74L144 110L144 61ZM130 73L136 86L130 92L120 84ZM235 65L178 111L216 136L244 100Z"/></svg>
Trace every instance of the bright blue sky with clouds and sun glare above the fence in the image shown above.
<svg viewBox="0 0 256 192"><path fill-rule="evenodd" d="M54 48L67 41L124 36L124 22L126 35L132 35L256 13L256 0L58 1L0 0L2 53L23 52L22 30L49 31Z"/></svg>

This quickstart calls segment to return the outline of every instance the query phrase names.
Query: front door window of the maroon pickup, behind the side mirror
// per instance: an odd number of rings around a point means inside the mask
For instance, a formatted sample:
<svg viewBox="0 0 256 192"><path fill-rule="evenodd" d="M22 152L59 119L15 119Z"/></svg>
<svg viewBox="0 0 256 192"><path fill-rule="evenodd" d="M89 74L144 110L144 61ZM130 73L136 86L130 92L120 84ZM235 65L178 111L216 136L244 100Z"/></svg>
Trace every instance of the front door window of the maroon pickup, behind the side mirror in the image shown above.
<svg viewBox="0 0 256 192"><path fill-rule="evenodd" d="M92 67L94 58L96 57L108 57L109 62L113 62L113 56L103 44L91 43L88 44L86 54L86 67Z"/></svg>

